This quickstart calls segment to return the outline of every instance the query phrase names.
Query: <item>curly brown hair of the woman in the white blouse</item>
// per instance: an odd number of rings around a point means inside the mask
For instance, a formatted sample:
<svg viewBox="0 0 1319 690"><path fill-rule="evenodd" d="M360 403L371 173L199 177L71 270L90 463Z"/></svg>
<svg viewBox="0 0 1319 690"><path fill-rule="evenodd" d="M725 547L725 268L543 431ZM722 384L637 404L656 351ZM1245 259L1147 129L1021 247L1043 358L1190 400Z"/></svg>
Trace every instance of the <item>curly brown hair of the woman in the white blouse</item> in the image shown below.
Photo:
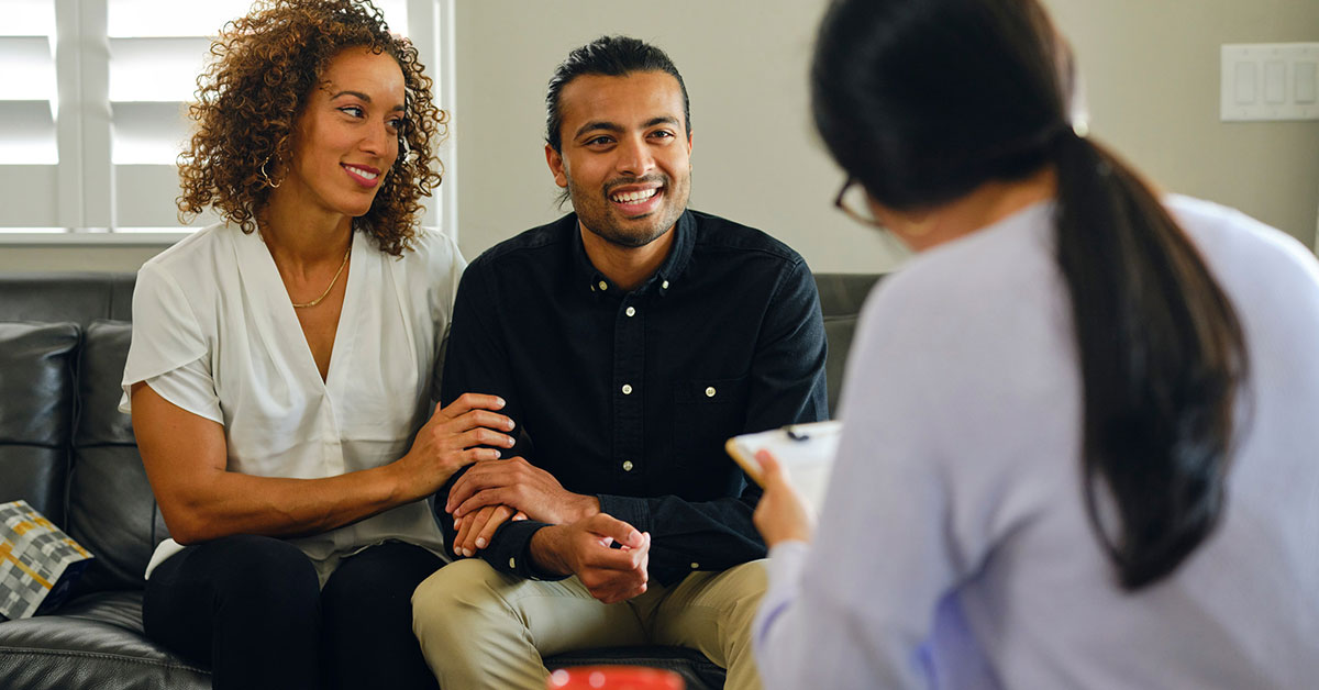
<svg viewBox="0 0 1319 690"><path fill-rule="evenodd" d="M398 160L352 228L401 256L415 235L421 198L441 182L434 148L448 132L448 113L431 100L417 49L389 32L369 0L259 0L249 15L224 25L189 107L197 129L178 157L179 219L212 207L243 232L255 231L272 189L262 166L290 160L294 125L311 90L331 58L359 46L398 62L405 121Z"/></svg>

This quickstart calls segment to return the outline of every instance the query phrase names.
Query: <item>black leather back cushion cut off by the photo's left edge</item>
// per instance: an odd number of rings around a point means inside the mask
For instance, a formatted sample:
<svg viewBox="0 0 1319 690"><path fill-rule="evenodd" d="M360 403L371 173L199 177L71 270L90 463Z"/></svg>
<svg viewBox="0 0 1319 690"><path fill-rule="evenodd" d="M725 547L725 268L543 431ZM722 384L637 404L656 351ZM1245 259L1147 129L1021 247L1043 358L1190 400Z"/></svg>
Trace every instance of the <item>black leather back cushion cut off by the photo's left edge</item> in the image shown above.
<svg viewBox="0 0 1319 690"><path fill-rule="evenodd" d="M79 338L74 323L0 323L0 501L26 500L59 526Z"/></svg>

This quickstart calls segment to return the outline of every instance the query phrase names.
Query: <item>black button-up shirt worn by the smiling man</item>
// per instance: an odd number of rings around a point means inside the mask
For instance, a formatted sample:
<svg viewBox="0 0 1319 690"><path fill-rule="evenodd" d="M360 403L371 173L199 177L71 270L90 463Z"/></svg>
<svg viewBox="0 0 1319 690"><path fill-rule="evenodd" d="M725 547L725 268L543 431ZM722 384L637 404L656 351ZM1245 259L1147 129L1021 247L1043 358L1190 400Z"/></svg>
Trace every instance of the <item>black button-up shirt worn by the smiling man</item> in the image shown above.
<svg viewBox="0 0 1319 690"><path fill-rule="evenodd" d="M687 211L673 231L663 265L632 292L591 264L575 214L487 251L458 288L441 393L445 405L501 396L530 438L514 451L649 532L663 584L765 555L751 520L760 488L724 453L728 437L827 416L806 261L708 214ZM543 577L529 551L541 526L506 522L480 553Z"/></svg>

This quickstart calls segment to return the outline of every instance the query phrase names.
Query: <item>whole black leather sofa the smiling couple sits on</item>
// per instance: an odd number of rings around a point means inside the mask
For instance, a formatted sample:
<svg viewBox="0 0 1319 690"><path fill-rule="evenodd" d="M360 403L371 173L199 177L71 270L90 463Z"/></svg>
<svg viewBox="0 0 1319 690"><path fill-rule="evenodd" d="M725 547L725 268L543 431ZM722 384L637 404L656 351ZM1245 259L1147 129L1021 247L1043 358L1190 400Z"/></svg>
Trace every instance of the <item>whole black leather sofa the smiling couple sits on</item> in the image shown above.
<svg viewBox="0 0 1319 690"><path fill-rule="evenodd" d="M876 278L816 276L831 409ZM168 530L117 410L133 280L0 274L0 503L26 500L96 555L53 615L0 623L0 689L211 686L203 665L142 636L142 571ZM723 686L721 669L678 648L595 649L547 664L645 664L677 670L692 690Z"/></svg>

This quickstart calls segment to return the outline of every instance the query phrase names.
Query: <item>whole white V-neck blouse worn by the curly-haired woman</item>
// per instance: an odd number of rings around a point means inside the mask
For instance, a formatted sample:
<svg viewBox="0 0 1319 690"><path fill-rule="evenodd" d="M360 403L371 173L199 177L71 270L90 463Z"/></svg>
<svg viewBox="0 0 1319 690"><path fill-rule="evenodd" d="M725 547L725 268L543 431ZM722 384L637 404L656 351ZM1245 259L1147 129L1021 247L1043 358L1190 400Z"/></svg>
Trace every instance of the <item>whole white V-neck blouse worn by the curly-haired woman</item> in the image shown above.
<svg viewBox="0 0 1319 690"><path fill-rule="evenodd" d="M401 458L433 410L435 359L466 263L447 236L421 230L393 257L353 234L343 314L322 381L278 269L260 235L207 227L137 273L133 340L119 409L146 381L161 397L224 426L228 470L314 479ZM290 538L322 583L339 559L386 540L443 555L426 501ZM152 570L182 550L157 546Z"/></svg>

